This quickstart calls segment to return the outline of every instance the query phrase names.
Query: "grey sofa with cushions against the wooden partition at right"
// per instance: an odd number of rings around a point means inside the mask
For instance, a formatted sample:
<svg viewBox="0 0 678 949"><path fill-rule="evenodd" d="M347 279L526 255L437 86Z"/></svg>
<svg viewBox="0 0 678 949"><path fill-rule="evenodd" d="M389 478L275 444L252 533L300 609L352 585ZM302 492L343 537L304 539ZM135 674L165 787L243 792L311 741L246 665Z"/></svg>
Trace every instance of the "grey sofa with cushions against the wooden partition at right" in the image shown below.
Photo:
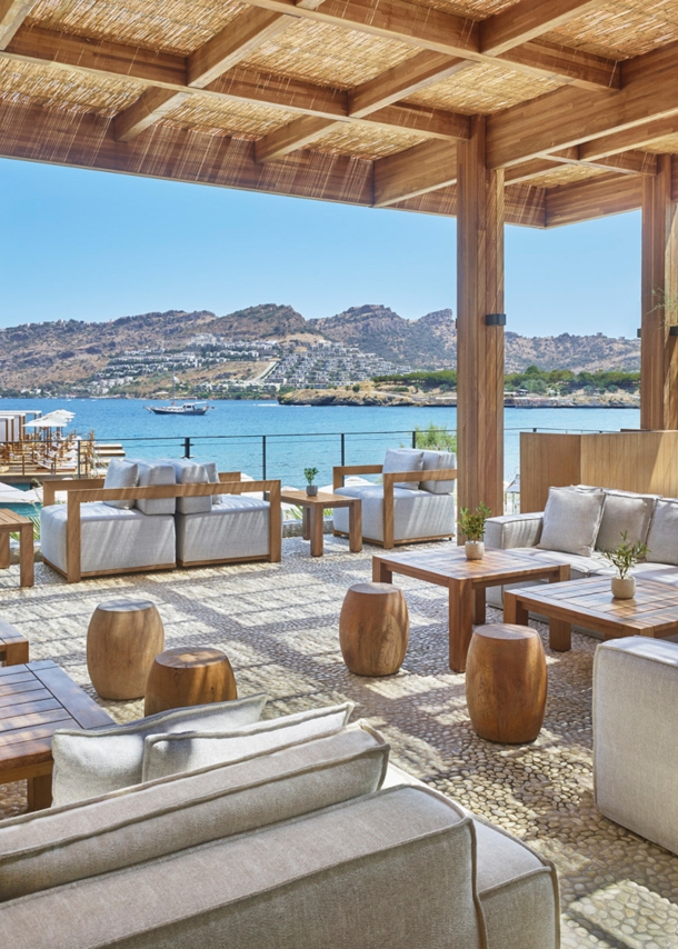
<svg viewBox="0 0 678 949"><path fill-rule="evenodd" d="M574 501L569 511L568 492ZM602 495L599 509L594 493ZM556 512L556 518L548 525L551 498L560 502L565 500L565 506L561 503L560 516ZM589 513L584 505L588 505ZM602 556L602 550L616 547L620 542L621 531L627 532L629 541L639 540L649 548L646 560L634 568L635 576L678 586L678 500L675 498L586 485L551 488L546 511L488 518L485 543L487 547L516 550L517 553L568 563L571 577L576 580L615 575L615 568ZM521 582L511 586L531 585ZM488 589L487 601L490 606L501 607L502 590L501 587Z"/></svg>

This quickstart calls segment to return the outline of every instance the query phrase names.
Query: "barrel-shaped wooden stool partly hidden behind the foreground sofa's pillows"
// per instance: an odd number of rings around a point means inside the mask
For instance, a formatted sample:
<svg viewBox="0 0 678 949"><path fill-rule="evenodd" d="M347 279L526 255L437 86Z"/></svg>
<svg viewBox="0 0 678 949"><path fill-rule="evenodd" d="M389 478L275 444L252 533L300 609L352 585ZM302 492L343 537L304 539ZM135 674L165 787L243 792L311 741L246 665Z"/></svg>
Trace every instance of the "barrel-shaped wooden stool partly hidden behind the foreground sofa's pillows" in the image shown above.
<svg viewBox="0 0 678 949"><path fill-rule="evenodd" d="M238 698L236 677L220 649L167 649L156 660L146 686L143 715Z"/></svg>

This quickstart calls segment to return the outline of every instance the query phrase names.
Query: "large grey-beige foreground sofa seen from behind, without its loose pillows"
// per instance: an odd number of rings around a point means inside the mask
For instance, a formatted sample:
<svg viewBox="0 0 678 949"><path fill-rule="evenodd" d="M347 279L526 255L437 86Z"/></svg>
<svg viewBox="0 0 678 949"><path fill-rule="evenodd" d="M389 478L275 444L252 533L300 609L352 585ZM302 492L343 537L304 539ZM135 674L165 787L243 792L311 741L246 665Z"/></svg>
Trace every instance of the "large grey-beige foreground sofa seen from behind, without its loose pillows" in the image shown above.
<svg viewBox="0 0 678 949"><path fill-rule="evenodd" d="M3 821L3 940L557 949L554 867L388 752L368 726L339 727Z"/></svg>

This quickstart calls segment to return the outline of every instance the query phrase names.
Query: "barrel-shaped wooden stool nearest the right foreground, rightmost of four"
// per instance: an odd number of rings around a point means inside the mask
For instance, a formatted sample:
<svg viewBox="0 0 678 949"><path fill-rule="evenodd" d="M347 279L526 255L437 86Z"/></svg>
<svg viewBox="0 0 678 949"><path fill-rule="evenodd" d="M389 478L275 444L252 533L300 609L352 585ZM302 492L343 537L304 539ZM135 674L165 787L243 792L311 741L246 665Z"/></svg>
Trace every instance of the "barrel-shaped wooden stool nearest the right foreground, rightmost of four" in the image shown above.
<svg viewBox="0 0 678 949"><path fill-rule="evenodd" d="M546 693L546 657L534 629L510 623L476 629L466 660L466 701L480 738L503 745L534 741Z"/></svg>

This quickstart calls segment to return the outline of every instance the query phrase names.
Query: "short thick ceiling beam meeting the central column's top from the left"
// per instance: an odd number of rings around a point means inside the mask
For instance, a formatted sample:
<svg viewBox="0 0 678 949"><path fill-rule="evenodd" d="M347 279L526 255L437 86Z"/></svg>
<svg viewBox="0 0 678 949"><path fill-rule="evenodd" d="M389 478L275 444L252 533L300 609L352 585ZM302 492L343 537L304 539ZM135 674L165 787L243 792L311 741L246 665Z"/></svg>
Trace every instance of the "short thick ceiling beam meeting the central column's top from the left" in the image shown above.
<svg viewBox="0 0 678 949"><path fill-rule="evenodd" d="M446 188L457 181L457 146L430 141L375 162L376 208Z"/></svg>

